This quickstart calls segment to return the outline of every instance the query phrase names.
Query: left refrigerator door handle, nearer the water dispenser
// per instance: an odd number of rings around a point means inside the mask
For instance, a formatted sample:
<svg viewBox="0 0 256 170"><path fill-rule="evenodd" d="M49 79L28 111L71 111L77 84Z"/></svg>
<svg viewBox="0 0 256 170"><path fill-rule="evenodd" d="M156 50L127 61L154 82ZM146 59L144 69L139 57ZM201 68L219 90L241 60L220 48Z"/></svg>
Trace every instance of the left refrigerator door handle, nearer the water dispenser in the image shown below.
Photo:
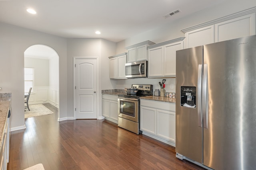
<svg viewBox="0 0 256 170"><path fill-rule="evenodd" d="M198 116L198 126L202 127L202 64L198 65L198 78L197 78L197 116Z"/></svg>

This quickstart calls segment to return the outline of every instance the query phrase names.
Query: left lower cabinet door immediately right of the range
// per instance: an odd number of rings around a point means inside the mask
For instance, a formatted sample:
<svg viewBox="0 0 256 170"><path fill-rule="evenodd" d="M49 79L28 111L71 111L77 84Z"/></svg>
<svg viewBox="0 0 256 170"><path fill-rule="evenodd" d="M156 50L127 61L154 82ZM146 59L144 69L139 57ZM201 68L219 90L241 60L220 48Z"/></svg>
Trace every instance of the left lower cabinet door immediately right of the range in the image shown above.
<svg viewBox="0 0 256 170"><path fill-rule="evenodd" d="M140 129L156 135L156 109L140 106Z"/></svg>

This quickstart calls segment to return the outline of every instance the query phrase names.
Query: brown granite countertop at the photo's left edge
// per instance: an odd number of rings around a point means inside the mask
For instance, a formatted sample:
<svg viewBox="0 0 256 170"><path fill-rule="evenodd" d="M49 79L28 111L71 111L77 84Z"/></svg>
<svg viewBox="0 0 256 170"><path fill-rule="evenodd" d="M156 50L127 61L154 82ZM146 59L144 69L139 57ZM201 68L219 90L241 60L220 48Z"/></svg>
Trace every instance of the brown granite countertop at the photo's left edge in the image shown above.
<svg viewBox="0 0 256 170"><path fill-rule="evenodd" d="M8 109L11 104L11 93L0 94L0 149L2 148L4 127L7 123Z"/></svg>

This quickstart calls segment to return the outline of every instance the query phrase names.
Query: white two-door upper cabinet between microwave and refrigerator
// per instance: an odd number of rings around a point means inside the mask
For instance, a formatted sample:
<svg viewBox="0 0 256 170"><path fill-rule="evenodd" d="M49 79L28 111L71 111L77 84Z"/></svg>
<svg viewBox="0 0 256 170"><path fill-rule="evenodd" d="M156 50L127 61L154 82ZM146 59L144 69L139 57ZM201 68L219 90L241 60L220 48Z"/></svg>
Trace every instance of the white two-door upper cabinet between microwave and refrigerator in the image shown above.
<svg viewBox="0 0 256 170"><path fill-rule="evenodd" d="M175 77L176 51L183 49L180 37L148 47L148 78Z"/></svg>

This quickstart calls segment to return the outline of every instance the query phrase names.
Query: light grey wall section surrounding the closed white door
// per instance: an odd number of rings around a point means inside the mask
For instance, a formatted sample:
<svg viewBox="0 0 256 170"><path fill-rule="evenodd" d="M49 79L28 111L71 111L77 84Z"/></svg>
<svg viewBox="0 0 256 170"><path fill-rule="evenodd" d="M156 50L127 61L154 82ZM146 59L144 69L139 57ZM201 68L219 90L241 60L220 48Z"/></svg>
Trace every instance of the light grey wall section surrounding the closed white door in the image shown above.
<svg viewBox="0 0 256 170"><path fill-rule="evenodd" d="M99 58L99 109L101 116L101 89L113 88L109 79L108 56L116 52L116 43L103 39L68 39L67 61L68 61L68 117L73 117L74 110L74 87L73 87L73 58L74 57L98 57Z"/></svg>

